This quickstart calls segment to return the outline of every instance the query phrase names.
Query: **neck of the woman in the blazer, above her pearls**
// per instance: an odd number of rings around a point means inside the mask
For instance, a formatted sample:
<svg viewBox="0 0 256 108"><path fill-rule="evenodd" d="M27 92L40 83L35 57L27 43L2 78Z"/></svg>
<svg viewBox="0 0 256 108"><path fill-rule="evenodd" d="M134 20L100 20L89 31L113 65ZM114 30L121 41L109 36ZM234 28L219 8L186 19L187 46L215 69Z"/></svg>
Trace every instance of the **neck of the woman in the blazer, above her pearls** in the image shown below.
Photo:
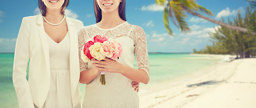
<svg viewBox="0 0 256 108"><path fill-rule="evenodd" d="M60 14L59 11L46 11L45 18L50 23L59 23L63 19L63 14Z"/></svg>

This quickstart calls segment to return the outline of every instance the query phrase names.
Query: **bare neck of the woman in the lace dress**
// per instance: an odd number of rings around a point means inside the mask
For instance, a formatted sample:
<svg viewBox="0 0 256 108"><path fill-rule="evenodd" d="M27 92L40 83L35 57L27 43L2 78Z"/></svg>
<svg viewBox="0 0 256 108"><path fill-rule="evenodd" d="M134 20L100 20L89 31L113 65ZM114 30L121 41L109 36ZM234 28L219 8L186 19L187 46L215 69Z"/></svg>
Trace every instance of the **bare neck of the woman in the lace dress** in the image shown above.
<svg viewBox="0 0 256 108"><path fill-rule="evenodd" d="M125 22L120 18L118 9L112 13L104 13L102 11L101 22L99 22L99 26L103 28L112 28L121 23Z"/></svg>

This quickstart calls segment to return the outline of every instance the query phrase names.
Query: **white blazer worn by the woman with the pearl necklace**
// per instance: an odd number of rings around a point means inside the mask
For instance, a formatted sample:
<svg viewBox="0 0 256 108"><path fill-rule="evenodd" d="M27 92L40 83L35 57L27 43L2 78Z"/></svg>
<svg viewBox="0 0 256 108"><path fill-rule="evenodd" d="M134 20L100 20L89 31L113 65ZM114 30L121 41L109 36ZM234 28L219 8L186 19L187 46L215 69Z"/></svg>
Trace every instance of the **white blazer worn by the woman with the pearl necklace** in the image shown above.
<svg viewBox="0 0 256 108"><path fill-rule="evenodd" d="M78 31L83 23L66 17L70 40L70 85L73 107L80 104ZM29 62L28 80L27 63ZM13 82L20 108L42 108L50 88L49 46L42 15L24 17L14 54Z"/></svg>

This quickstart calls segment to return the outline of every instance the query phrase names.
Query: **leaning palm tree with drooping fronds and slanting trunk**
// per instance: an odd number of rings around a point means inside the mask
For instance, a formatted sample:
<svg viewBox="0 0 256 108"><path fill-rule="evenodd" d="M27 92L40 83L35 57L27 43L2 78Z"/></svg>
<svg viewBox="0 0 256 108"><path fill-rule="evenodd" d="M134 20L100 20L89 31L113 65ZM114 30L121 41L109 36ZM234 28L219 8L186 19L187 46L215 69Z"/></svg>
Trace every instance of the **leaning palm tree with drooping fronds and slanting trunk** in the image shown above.
<svg viewBox="0 0 256 108"><path fill-rule="evenodd" d="M176 27L179 27L182 32L190 30L190 28L187 25L187 22L185 21L185 17L187 17L186 12L197 17L206 19L220 26L228 27L233 30L238 30L242 32L248 32L247 28L233 26L228 23L223 23L212 18L206 17L204 15L198 14L197 12L199 12L200 10L202 13L214 16L214 14L212 14L210 10L202 7L201 5L198 5L196 0L155 0L155 3L161 6L165 6L164 24L167 32L172 36L174 35L172 29L169 26L169 18L172 19L174 25ZM251 32L251 34L256 35L255 32Z"/></svg>

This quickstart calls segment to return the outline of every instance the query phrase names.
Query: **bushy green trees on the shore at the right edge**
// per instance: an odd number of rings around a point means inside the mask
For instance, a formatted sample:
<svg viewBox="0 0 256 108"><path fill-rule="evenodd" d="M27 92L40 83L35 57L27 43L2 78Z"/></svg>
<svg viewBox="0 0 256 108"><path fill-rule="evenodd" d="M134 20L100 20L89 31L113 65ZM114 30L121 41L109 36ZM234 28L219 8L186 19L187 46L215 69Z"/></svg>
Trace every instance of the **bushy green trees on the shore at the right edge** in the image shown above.
<svg viewBox="0 0 256 108"><path fill-rule="evenodd" d="M224 19L221 19L225 22ZM245 17L242 18L240 12L233 18L233 21L228 19L230 25L249 28L250 31L256 29L256 10L251 11L247 7ZM197 54L236 54L239 58L249 58L256 56L256 36L250 32L244 33L229 29L227 27L219 27L215 29L215 33L210 34L210 41L213 45L207 45L202 50L193 50Z"/></svg>

